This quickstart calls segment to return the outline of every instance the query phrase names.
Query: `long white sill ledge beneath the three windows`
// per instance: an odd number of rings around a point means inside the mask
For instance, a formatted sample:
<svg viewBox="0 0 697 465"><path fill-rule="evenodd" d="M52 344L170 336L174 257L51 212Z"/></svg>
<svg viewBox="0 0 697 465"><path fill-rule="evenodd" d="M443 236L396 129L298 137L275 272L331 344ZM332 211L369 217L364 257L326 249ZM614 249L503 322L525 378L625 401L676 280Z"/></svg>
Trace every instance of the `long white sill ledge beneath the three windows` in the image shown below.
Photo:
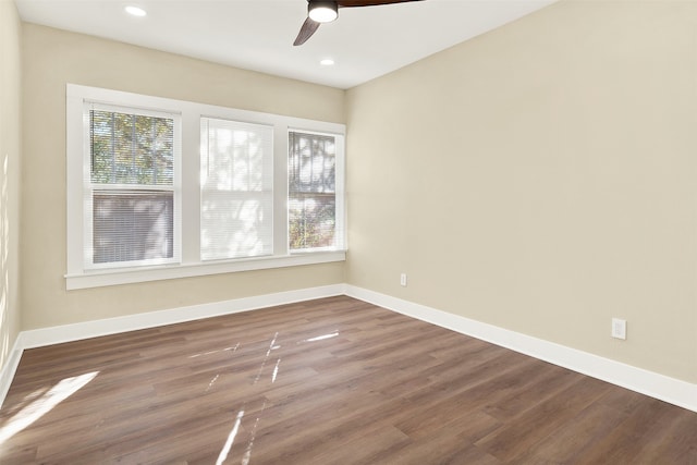
<svg viewBox="0 0 697 465"><path fill-rule="evenodd" d="M303 265L344 261L346 253L321 252L284 257L260 257L234 261L206 262L196 265L174 265L138 269L118 269L88 271L82 274L66 274L68 291L107 285L132 284L147 281L160 281L178 278L192 278L209 274L234 273L240 271L267 270L271 268L298 267Z"/></svg>

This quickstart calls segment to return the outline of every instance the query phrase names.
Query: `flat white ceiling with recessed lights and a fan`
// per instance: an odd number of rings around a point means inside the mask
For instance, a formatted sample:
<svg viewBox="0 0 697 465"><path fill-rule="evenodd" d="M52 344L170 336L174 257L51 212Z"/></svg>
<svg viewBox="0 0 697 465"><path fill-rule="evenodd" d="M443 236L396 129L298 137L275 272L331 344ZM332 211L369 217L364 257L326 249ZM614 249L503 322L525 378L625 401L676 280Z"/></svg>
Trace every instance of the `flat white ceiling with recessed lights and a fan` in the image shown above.
<svg viewBox="0 0 697 465"><path fill-rule="evenodd" d="M341 9L301 47L306 0L15 0L29 23L350 88L555 0L425 0ZM124 12L127 4L145 17ZM333 66L319 61L332 58Z"/></svg>

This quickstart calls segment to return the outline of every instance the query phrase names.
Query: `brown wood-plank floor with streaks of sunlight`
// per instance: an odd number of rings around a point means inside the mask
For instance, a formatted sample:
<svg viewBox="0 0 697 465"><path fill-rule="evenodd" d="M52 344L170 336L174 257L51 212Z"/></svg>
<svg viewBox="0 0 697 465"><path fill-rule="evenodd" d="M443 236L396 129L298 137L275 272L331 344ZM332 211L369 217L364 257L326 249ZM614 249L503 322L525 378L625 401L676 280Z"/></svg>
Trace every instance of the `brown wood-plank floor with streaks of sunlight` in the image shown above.
<svg viewBox="0 0 697 465"><path fill-rule="evenodd" d="M697 464L697 414L332 297L26 351L2 464Z"/></svg>

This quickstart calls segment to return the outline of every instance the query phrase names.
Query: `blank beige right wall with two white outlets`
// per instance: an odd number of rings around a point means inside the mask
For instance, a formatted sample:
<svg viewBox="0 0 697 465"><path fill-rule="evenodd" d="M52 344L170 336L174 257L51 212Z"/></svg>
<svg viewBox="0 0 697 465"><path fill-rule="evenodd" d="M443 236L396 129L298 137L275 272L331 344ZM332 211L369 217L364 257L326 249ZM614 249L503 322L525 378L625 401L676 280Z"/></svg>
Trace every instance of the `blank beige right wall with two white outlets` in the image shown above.
<svg viewBox="0 0 697 465"><path fill-rule="evenodd" d="M347 282L697 382L696 30L561 2L350 90Z"/></svg>

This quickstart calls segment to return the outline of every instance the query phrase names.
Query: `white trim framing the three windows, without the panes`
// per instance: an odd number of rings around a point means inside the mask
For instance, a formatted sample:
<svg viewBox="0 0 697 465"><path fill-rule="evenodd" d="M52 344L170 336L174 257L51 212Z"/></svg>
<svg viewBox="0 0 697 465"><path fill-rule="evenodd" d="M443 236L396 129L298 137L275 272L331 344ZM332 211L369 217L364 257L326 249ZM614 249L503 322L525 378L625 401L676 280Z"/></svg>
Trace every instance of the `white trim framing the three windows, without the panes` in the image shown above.
<svg viewBox="0 0 697 465"><path fill-rule="evenodd" d="M152 267L113 268L86 270L83 262L85 206L83 195L83 170L85 169L83 109L86 101L122 106L145 110L176 113L181 115L182 156L180 173L183 175L181 218L181 262ZM268 124L274 127L273 157L273 223L285 224L274 228L273 255L266 257L201 261L200 259L200 118L221 118L250 123ZM283 268L331 261L346 258L346 231L344 206L344 154L338 154L337 179L337 224L342 230L344 247L340 250L317 250L289 253L288 247L288 132L304 130L334 134L345 139L345 125L293 117L237 110L225 107L144 96L120 90L68 84L66 86L66 191L68 191L68 290L97 287L188 278L218 273L229 273L270 268ZM341 163L341 164L339 164Z"/></svg>

